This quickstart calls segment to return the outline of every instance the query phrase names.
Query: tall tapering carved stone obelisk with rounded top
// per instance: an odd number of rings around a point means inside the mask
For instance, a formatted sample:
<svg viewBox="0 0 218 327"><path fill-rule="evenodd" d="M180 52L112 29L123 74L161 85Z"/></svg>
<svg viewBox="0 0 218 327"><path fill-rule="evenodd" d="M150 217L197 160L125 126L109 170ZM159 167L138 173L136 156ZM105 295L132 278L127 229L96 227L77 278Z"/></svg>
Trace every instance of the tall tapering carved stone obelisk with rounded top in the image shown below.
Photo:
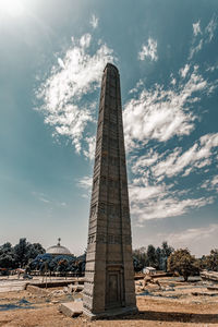
<svg viewBox="0 0 218 327"><path fill-rule="evenodd" d="M90 199L84 314L136 311L120 76L104 70Z"/></svg>

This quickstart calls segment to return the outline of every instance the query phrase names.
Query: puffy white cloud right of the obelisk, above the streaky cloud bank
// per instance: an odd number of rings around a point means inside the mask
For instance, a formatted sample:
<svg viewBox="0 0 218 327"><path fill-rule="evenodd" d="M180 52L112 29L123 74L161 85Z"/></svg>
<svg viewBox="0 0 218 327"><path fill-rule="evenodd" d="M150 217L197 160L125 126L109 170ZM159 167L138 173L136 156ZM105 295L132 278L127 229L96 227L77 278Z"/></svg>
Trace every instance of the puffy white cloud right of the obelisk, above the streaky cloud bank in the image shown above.
<svg viewBox="0 0 218 327"><path fill-rule="evenodd" d="M175 135L189 135L196 119L190 108L199 100L196 96L193 98L193 94L209 92L210 87L194 66L189 80L180 83L177 89L166 90L158 84L143 89L137 98L132 98L124 106L126 147L145 145L149 140L166 142Z"/></svg>

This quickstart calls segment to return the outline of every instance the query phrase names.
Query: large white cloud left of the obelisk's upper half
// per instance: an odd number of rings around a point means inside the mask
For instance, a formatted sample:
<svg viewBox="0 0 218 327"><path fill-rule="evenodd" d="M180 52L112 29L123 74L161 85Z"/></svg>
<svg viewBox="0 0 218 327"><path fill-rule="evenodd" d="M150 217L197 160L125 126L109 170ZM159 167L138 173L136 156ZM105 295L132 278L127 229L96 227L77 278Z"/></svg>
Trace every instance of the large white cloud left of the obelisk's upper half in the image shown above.
<svg viewBox="0 0 218 327"><path fill-rule="evenodd" d="M53 126L53 135L66 136L80 153L82 140L87 137L87 123L94 122L93 104L85 101L84 96L100 86L102 70L108 61L113 62L113 55L104 44L89 55L90 34L78 40L72 38L72 41L65 56L58 58L59 65L52 68L37 96L44 100L39 110L45 114L45 123ZM88 138L86 142L89 144ZM84 154L90 157L89 152Z"/></svg>

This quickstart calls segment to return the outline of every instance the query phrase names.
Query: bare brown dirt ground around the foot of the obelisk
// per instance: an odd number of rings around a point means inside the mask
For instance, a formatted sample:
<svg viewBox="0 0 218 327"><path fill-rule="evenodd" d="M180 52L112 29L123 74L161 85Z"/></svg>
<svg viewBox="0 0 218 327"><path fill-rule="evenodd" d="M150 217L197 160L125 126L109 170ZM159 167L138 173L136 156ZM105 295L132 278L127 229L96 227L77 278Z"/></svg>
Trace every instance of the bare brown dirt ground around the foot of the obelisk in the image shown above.
<svg viewBox="0 0 218 327"><path fill-rule="evenodd" d="M34 292L23 290L0 293L0 326L5 327L122 327L122 326L218 326L218 294L201 282L184 283L164 279L158 286L147 286L142 292L136 282L136 315L89 322L81 316L70 318L59 312L61 302L73 300L62 289ZM202 295L193 295L193 292ZM206 293L206 295L205 295ZM208 293L208 295L207 295ZM77 293L77 298L81 295Z"/></svg>

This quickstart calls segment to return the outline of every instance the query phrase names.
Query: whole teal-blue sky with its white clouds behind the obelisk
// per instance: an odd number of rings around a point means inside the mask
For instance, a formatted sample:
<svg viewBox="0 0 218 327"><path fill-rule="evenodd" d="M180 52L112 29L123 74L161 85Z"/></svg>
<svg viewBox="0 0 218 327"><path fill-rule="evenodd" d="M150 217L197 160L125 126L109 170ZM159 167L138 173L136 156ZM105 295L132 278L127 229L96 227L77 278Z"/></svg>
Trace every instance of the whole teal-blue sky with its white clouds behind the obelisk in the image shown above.
<svg viewBox="0 0 218 327"><path fill-rule="evenodd" d="M121 75L133 246L218 247L218 2L0 1L0 244L86 247L100 78Z"/></svg>

